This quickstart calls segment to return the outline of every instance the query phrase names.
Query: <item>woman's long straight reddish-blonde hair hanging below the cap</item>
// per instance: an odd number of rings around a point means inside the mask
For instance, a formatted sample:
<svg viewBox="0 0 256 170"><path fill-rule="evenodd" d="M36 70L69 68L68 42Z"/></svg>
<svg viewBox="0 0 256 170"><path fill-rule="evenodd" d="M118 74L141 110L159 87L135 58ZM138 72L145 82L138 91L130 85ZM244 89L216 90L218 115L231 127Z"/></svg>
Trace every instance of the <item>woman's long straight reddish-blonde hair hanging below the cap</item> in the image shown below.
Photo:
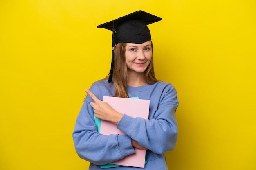
<svg viewBox="0 0 256 170"><path fill-rule="evenodd" d="M123 97L123 98L129 97L126 89L126 84L128 79L127 66L126 66L126 60L125 60L126 45L127 43L118 43L114 49L115 62L114 62L114 71L113 71L112 81L115 87L115 95L114 95L115 97ZM158 81L155 78L155 72L154 72L152 41L151 41L151 45L152 45L151 61L144 72L144 80L148 84L154 84Z"/></svg>

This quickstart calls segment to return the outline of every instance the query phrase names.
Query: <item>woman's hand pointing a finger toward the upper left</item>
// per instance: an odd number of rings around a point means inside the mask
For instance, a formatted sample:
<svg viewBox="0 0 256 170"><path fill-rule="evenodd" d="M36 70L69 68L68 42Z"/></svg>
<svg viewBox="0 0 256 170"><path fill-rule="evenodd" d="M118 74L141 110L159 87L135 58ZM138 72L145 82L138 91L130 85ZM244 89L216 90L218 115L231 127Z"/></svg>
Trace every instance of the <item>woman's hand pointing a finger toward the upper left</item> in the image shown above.
<svg viewBox="0 0 256 170"><path fill-rule="evenodd" d="M92 92L85 89L85 92L94 100L90 106L94 108L95 117L118 124L123 114L115 111L107 102L99 100Z"/></svg>

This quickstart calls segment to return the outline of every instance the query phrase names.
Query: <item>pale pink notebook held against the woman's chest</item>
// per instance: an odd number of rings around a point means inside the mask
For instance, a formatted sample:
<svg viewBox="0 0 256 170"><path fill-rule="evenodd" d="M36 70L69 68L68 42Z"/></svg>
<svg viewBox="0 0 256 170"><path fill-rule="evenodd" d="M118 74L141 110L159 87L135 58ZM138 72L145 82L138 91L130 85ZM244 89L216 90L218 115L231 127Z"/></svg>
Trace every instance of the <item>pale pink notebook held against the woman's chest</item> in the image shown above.
<svg viewBox="0 0 256 170"><path fill-rule="evenodd" d="M134 118L141 117L144 119L148 119L150 102L149 100L103 96L103 102L107 102L113 109L115 109L119 113L127 114ZM117 129L115 124L104 120L101 120L100 132L104 135L117 133L124 135L124 132ZM134 154L128 155L123 159L112 162L112 164L144 168L145 156L146 150L135 148Z"/></svg>

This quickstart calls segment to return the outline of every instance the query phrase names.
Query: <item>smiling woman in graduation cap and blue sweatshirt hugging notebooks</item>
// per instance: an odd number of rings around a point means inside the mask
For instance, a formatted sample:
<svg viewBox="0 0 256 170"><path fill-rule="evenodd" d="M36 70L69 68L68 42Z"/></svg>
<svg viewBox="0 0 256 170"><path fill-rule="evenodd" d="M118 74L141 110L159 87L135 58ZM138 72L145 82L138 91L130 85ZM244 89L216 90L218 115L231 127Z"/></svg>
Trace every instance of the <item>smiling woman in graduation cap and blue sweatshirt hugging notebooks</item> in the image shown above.
<svg viewBox="0 0 256 170"><path fill-rule="evenodd" d="M112 66L108 79L96 81L85 90L86 97L73 132L79 157L90 161L89 170L146 150L146 170L167 170L165 152L173 150L177 140L175 111L179 105L173 85L158 81L153 69L153 45L146 25L162 20L136 11L98 27L113 31ZM133 118L112 109L103 96L135 97L150 100L149 118ZM93 112L94 109L94 112ZM95 117L112 122L126 135L102 135ZM121 166L108 170L136 170Z"/></svg>

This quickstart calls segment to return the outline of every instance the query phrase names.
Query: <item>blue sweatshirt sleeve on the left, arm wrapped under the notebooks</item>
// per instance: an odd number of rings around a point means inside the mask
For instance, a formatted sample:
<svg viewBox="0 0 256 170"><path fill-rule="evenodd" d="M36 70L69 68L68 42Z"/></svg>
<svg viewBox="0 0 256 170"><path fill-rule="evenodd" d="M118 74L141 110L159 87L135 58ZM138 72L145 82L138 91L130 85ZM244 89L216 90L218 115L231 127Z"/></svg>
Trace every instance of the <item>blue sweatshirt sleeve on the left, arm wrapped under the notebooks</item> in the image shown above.
<svg viewBox="0 0 256 170"><path fill-rule="evenodd" d="M95 87L92 87L90 91L99 98ZM93 101L88 95L81 107L72 133L74 146L79 157L96 165L103 165L135 153L131 138L127 135L97 133L90 102Z"/></svg>

